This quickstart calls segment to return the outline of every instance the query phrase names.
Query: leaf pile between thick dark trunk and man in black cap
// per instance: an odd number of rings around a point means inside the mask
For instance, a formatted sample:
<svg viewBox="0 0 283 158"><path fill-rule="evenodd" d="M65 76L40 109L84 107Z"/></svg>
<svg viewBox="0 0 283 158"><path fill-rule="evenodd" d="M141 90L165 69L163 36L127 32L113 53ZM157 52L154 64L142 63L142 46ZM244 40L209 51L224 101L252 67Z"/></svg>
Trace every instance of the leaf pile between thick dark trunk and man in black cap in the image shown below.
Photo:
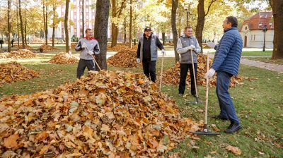
<svg viewBox="0 0 283 158"><path fill-rule="evenodd" d="M136 49L122 49L117 54L110 56L107 60L108 65L117 67L137 67L141 63L137 63L137 50Z"/></svg>

